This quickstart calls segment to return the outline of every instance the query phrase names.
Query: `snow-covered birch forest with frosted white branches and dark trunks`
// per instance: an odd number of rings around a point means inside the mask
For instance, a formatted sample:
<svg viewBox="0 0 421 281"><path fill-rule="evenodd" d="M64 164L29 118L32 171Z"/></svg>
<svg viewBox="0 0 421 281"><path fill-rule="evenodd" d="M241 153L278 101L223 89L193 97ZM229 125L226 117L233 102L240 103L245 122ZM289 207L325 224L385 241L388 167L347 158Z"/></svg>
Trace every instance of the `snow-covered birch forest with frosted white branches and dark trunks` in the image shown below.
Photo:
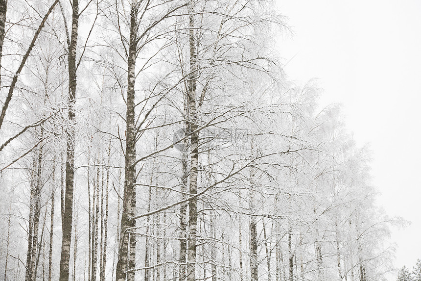
<svg viewBox="0 0 421 281"><path fill-rule="evenodd" d="M0 0L4 281L380 281L368 147L273 0Z"/></svg>

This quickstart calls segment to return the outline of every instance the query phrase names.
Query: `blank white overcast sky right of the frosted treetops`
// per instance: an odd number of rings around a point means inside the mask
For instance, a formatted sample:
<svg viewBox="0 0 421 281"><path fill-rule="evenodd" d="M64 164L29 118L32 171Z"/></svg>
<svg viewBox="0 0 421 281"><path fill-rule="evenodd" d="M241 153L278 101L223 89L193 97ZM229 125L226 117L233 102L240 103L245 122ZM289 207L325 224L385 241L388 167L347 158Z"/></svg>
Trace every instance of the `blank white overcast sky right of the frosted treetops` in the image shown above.
<svg viewBox="0 0 421 281"><path fill-rule="evenodd" d="M412 222L393 230L396 267L421 258L421 1L278 0L295 35L279 40L292 80L318 77L322 105L374 152L378 204ZM394 278L391 280L395 280Z"/></svg>

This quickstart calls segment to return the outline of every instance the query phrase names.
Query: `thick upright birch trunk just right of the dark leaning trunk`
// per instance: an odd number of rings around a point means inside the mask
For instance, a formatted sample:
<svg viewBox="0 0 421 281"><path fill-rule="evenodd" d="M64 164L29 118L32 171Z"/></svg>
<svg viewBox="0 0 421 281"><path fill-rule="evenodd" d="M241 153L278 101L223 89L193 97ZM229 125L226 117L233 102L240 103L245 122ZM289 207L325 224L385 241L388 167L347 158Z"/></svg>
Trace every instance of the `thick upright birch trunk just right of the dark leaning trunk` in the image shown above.
<svg viewBox="0 0 421 281"><path fill-rule="evenodd" d="M71 39L69 46L69 98L66 153L66 190L64 199L63 235L60 256L60 281L69 281L71 225L73 223L73 189L74 189L74 147L76 121L74 104L76 99L76 49L79 27L79 2L72 3Z"/></svg>

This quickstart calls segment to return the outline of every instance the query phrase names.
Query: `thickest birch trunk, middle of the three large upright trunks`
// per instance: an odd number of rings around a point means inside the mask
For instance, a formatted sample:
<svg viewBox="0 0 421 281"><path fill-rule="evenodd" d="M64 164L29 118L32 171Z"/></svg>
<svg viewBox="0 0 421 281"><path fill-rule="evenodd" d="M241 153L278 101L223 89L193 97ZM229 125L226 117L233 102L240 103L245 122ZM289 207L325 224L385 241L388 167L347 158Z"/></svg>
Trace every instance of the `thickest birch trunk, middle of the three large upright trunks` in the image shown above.
<svg viewBox="0 0 421 281"><path fill-rule="evenodd" d="M116 280L134 280L133 271L128 269L136 266L136 238L130 237L128 229L136 227L136 220L131 219L136 214L136 128L135 128L135 67L137 52L137 30L139 7L137 1L132 1L130 11L130 43L127 63L127 110L126 110L126 151L124 171L123 211L121 214L120 244L116 269ZM132 234L133 235L133 234ZM130 243L130 245L129 245ZM129 258L130 256L130 258Z"/></svg>

